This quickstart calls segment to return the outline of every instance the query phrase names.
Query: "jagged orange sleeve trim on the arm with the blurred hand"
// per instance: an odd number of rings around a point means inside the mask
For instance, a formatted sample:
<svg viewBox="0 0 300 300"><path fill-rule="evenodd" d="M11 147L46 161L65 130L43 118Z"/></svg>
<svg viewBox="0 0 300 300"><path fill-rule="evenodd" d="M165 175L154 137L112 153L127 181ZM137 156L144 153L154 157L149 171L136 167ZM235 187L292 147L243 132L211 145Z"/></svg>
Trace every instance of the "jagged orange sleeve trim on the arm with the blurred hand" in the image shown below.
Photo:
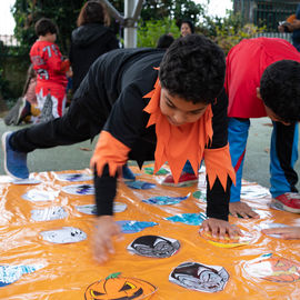
<svg viewBox="0 0 300 300"><path fill-rule="evenodd" d="M108 131L101 131L97 142L93 156L90 161L90 167L93 169L97 166L97 173L101 176L106 164L109 166L109 174L116 176L128 160L130 148L113 138Z"/></svg>

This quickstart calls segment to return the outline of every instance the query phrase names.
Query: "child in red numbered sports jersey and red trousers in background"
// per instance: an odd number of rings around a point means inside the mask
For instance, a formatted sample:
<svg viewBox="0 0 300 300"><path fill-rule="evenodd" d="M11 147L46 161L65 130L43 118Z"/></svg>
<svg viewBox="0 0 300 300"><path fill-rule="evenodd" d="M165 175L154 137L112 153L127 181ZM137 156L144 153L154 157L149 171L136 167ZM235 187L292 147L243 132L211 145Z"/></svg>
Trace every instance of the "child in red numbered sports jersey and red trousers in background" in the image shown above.
<svg viewBox="0 0 300 300"><path fill-rule="evenodd" d="M50 96L52 116L59 118L66 108L68 83L66 72L70 72L70 62L63 60L54 43L58 29L50 19L40 19L34 29L39 38L31 47L30 59L38 74L36 88L38 108L42 111L46 98Z"/></svg>

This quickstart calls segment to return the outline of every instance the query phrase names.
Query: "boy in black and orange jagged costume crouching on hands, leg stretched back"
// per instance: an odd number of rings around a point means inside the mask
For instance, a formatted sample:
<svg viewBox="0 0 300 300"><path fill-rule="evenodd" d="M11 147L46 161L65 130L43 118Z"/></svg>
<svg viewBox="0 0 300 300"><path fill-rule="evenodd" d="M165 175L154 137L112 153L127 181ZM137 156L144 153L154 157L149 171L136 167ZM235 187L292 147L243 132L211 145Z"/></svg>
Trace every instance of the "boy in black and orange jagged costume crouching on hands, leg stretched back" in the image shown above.
<svg viewBox="0 0 300 300"><path fill-rule="evenodd" d="M91 168L98 213L94 251L102 262L113 251L111 238L120 233L112 207L127 160L142 166L156 159L156 171L168 161L177 181L187 160L198 170L204 154L209 218L203 227L214 237L232 238L240 231L227 221L234 171L227 141L224 71L222 50L197 34L178 39L167 52L108 52L92 64L62 118L3 134L4 169L14 178L28 178L28 152L100 132Z"/></svg>

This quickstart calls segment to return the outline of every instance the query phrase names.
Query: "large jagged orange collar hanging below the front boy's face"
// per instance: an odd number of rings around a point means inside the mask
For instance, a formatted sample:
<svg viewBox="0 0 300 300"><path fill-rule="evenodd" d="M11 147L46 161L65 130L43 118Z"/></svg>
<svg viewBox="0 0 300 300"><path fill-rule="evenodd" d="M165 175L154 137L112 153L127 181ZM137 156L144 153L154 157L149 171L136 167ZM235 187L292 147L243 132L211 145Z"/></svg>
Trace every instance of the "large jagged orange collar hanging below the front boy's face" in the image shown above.
<svg viewBox="0 0 300 300"><path fill-rule="evenodd" d="M151 114L147 127L156 124L154 172L168 161L174 182L178 182L187 160L198 173L204 147L212 139L212 110L209 104L204 114L197 122L181 127L171 126L160 111L160 82L157 80L154 90L143 97L151 98L143 109Z"/></svg>

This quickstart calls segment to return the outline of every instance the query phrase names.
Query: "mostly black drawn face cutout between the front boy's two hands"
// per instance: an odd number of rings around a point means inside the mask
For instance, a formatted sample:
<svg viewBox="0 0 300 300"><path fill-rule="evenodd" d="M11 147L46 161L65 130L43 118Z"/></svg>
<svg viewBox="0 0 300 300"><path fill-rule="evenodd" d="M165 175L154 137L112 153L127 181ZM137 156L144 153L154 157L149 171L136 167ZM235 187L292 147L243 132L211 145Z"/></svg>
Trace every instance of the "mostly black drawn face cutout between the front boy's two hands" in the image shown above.
<svg viewBox="0 0 300 300"><path fill-rule="evenodd" d="M131 248L140 256L168 258L171 257L180 244L177 240L158 236L143 236L131 243Z"/></svg>

